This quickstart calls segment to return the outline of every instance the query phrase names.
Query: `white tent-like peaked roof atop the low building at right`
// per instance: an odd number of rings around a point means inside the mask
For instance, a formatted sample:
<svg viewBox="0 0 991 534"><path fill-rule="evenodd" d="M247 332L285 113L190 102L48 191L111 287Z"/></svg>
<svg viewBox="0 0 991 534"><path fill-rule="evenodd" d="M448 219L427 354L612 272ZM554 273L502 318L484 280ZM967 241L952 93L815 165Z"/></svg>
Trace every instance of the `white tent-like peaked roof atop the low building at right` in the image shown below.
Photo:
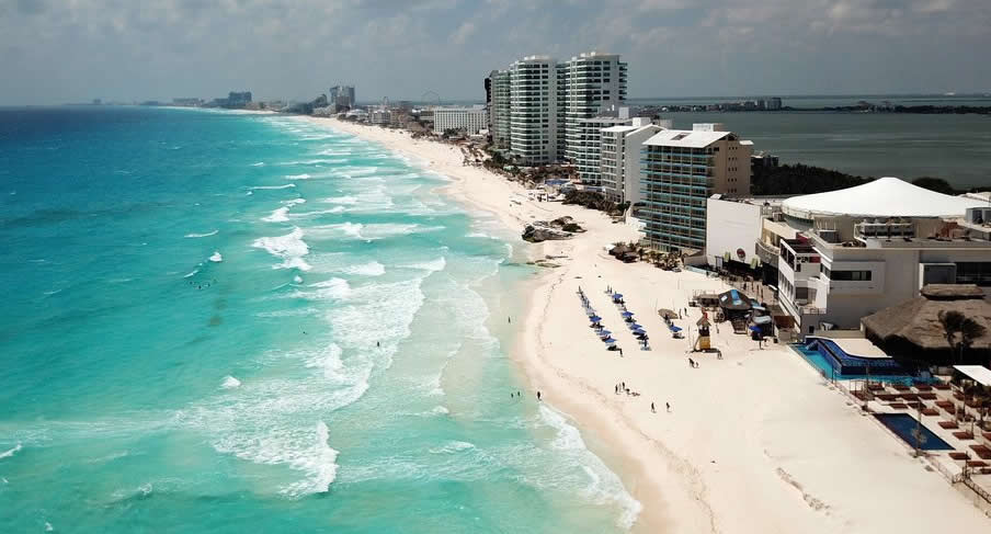
<svg viewBox="0 0 991 534"><path fill-rule="evenodd" d="M945 195L898 178L880 178L853 188L793 196L783 204L785 214L802 219L815 216L848 217L961 217L968 207L984 203Z"/></svg>

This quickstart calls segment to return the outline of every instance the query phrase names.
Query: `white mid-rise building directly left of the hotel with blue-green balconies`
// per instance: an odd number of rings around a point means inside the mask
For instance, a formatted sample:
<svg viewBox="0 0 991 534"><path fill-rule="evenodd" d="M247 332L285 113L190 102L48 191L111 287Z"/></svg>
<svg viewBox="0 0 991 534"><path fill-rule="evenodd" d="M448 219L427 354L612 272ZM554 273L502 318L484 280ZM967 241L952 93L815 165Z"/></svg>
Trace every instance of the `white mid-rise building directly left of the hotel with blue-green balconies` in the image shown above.
<svg viewBox="0 0 991 534"><path fill-rule="evenodd" d="M640 202L640 182L643 177L640 167L641 145L670 127L671 121L651 124L649 118L634 117L628 124L600 130L599 173L602 193L606 198L617 204Z"/></svg>

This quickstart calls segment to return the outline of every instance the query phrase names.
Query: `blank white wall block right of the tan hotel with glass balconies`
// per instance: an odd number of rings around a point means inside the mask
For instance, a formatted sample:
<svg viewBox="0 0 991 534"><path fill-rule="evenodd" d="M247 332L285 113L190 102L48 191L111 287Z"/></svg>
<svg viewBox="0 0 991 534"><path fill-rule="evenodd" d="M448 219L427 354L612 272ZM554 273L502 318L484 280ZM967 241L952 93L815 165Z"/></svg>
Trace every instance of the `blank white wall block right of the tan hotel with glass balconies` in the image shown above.
<svg viewBox="0 0 991 534"><path fill-rule="evenodd" d="M715 198L706 201L706 250L709 265L729 252L734 261L750 263L756 258L754 243L761 239L761 206ZM743 251L742 258L739 251Z"/></svg>

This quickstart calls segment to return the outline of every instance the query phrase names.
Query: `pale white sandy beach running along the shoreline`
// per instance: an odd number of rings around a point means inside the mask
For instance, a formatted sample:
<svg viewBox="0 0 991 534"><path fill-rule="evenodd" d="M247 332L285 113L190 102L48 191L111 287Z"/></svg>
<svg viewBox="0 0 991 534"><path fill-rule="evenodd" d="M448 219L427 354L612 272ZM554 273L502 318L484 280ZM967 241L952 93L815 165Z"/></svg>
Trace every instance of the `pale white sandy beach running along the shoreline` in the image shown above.
<svg viewBox="0 0 991 534"><path fill-rule="evenodd" d="M514 231L524 221L561 215L589 230L569 241L528 246L533 258L567 258L533 282L513 353L532 388L576 420L642 503L635 532L991 532L991 519L968 496L913 458L790 349L759 350L724 328L714 337L722 360L688 354L688 339L672 339L654 310L684 308L693 291L721 288L718 280L610 258L603 247L635 240L630 227L581 207L528 201L519 185L464 167L456 147L311 120L449 177L447 193L497 214ZM607 285L625 295L652 350L638 349L604 293ZM589 329L579 286L624 357L606 351ZM688 313L694 323L699 313ZM688 366L690 356L700 362L698 368ZM641 395L615 395L620 380Z"/></svg>

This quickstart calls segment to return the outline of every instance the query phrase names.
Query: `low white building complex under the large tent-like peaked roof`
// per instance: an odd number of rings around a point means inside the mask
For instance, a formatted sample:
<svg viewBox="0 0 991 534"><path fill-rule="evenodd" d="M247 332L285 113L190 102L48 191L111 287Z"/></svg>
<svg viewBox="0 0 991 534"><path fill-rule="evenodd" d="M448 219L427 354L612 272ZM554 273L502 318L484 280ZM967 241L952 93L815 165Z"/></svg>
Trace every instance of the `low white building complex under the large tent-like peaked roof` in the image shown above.
<svg viewBox="0 0 991 534"><path fill-rule="evenodd" d="M786 198L772 218L760 208L714 206L710 235L734 235L748 259L755 247L760 261L776 262L778 302L802 336L856 329L863 317L919 296L926 284L991 287L986 201L881 178ZM754 220L741 223L753 217L761 217L760 230Z"/></svg>

